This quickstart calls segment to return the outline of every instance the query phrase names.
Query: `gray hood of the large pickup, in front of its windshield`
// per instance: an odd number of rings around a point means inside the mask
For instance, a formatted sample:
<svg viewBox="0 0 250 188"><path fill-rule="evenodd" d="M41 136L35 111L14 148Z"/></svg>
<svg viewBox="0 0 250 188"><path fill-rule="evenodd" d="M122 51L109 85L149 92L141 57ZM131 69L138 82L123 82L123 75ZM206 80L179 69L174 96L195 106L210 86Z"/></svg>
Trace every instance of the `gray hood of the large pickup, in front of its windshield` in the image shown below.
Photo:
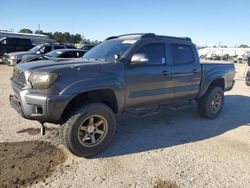
<svg viewBox="0 0 250 188"><path fill-rule="evenodd" d="M40 60L28 63L18 64L16 68L22 71L38 71L38 72L56 72L59 69L74 68L82 66L95 66L107 64L109 62L98 60L85 60L85 59L53 59L53 60Z"/></svg>

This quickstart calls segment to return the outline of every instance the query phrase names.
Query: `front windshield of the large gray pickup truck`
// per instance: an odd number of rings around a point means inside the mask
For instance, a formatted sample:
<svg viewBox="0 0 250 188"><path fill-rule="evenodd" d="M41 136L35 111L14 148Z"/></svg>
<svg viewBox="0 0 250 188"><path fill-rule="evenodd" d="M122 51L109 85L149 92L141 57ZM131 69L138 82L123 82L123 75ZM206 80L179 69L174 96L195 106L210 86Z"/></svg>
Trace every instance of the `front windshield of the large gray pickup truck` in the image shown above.
<svg viewBox="0 0 250 188"><path fill-rule="evenodd" d="M107 40L92 48L83 58L114 62L116 54L121 57L135 42L136 40Z"/></svg>

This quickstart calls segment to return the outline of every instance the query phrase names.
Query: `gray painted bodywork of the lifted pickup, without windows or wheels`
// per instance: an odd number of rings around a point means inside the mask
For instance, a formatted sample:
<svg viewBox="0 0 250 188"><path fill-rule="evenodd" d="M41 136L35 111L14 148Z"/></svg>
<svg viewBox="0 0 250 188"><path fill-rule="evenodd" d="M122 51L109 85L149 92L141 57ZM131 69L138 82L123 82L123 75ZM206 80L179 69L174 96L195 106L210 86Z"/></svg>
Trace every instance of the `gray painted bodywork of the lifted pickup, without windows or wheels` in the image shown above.
<svg viewBox="0 0 250 188"><path fill-rule="evenodd" d="M166 64L131 65L130 59L136 49L151 42L165 44ZM194 62L173 65L169 50L171 43L190 45ZM26 76L34 71L59 74L55 84L43 91L35 91L29 84L25 88L18 88L12 83L27 118L53 123L60 120L64 109L75 96L86 91L112 90L118 111L122 112L143 106L195 100L202 97L212 81L219 78L224 80L225 90L230 90L235 75L233 64L200 64L197 50L190 39L152 34L140 38L117 63L81 59L51 60L20 64L16 68L25 72ZM34 114L34 104L40 105L44 113Z"/></svg>

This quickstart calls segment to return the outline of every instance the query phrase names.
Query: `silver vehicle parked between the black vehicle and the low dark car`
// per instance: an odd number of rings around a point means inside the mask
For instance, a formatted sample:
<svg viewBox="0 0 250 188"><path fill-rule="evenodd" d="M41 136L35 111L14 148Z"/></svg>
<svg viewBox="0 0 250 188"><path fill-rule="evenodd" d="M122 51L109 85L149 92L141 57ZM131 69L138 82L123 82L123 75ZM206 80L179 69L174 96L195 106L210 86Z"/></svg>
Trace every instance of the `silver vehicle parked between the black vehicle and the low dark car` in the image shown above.
<svg viewBox="0 0 250 188"><path fill-rule="evenodd" d="M3 62L7 65L16 65L18 64L24 55L29 55L29 56L39 56L42 54L46 54L48 52L51 52L52 50L57 50L57 49L73 49L75 48L74 46L71 45L61 45L61 44L38 44L29 51L22 51L22 52L14 52L14 53L9 53L5 54L3 58Z"/></svg>

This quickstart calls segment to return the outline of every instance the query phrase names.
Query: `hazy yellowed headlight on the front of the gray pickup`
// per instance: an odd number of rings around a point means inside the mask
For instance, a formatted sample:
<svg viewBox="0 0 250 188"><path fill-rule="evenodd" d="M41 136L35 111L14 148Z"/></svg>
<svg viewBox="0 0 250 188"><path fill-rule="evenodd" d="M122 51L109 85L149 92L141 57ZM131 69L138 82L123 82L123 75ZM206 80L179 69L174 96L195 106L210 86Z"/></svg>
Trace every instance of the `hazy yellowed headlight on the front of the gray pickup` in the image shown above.
<svg viewBox="0 0 250 188"><path fill-rule="evenodd" d="M57 78L57 73L33 72L28 80L33 89L43 90L49 89L55 83Z"/></svg>

